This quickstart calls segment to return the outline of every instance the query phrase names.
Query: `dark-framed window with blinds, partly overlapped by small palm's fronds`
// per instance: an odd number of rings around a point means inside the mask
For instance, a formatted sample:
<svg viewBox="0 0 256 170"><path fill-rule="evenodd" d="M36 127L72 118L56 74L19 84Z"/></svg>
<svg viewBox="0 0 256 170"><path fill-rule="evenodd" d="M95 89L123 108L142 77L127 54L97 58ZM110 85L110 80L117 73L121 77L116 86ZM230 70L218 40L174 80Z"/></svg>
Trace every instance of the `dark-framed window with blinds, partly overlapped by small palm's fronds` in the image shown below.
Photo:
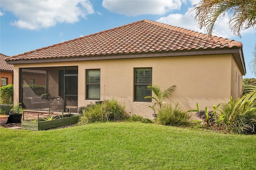
<svg viewBox="0 0 256 170"><path fill-rule="evenodd" d="M151 99L144 99L152 95L148 88L151 84L152 68L134 68L134 101L151 102Z"/></svg>

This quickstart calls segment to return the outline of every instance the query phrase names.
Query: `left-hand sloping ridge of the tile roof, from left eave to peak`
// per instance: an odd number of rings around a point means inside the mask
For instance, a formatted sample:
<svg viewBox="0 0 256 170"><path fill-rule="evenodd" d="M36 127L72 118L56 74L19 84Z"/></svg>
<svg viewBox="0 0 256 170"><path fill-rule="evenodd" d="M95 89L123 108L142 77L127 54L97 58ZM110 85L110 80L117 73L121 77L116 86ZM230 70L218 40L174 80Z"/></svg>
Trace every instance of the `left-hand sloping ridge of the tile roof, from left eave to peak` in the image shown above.
<svg viewBox="0 0 256 170"><path fill-rule="evenodd" d="M87 36L82 36L82 37L79 37L79 38L74 38L72 40L68 40L68 41L65 41L65 42L60 42L60 43L56 43L56 44L53 44L53 45L49 45L49 46L46 46L46 47L42 47L42 48L38 48L38 49L35 49L35 50L32 50L32 51L27 51L27 52L24 52L24 53L21 53L21 54L18 54L18 55L13 55L12 57L10 58L15 58L15 57L18 57L18 56L21 56L21 55L25 55L25 54L29 54L29 53L32 53L32 52L35 52L35 51L40 51L42 49L46 49L46 48L49 48L49 47L54 47L56 45L61 45L61 44L64 44L64 43L69 43L69 42L74 42L75 40L80 40L80 39L83 39L83 38L87 38L87 37L90 37L90 36L94 36L94 35L98 35L98 34L102 34L102 33L106 33L106 32L110 32L111 30L116 30L118 28L122 28L122 27L125 27L125 26L129 26L129 25L133 25L133 24L136 24L136 23L139 23L139 22L144 22L145 20L140 20L140 21L136 21L136 22L132 22L130 24L125 24L123 26L118 26L118 27L115 27L115 28L111 28L111 29L108 29L108 30L104 30L104 31L101 31L101 32L97 32L97 33L94 33L94 34L89 34ZM8 57L9 58L9 57Z"/></svg>

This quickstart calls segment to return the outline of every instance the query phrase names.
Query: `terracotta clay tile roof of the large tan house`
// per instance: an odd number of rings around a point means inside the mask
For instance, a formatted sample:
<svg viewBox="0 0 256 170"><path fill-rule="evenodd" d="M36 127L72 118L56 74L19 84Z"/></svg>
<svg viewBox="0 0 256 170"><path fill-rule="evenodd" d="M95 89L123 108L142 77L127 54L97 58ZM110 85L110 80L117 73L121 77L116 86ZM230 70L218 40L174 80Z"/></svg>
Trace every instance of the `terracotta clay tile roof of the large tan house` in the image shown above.
<svg viewBox="0 0 256 170"><path fill-rule="evenodd" d="M8 57L6 61L242 47L241 42L141 20Z"/></svg>

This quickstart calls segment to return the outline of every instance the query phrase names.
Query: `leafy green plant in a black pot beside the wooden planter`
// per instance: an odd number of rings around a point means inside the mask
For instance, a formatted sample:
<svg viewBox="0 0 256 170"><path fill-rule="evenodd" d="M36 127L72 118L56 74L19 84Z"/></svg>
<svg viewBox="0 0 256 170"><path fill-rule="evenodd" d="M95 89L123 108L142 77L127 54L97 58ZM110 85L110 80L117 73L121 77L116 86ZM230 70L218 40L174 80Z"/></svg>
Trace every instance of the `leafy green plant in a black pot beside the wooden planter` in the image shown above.
<svg viewBox="0 0 256 170"><path fill-rule="evenodd" d="M24 109L22 109L21 103L15 105L9 113L9 119L7 123L20 123Z"/></svg>

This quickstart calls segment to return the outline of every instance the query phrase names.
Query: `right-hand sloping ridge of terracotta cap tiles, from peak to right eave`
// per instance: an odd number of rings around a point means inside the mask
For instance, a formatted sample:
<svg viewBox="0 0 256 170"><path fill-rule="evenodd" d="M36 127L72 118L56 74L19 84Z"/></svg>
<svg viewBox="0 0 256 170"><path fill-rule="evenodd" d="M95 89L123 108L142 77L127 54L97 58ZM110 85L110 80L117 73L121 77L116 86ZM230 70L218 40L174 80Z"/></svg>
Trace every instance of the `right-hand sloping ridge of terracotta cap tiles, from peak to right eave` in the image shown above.
<svg viewBox="0 0 256 170"><path fill-rule="evenodd" d="M169 29L173 29L176 30L177 32L182 32L185 34L189 34L189 35L198 35L198 36L202 36L202 37L206 37L206 38L211 38L212 40L214 40L215 42L227 42L229 45L230 43L235 43L237 47L242 47L242 43L241 42L237 42L235 40L230 40L228 38L222 38L222 37L218 37L218 36L208 36L207 34L204 34L202 32L196 32L193 30L188 30L186 28L181 28L181 27L176 27L176 26L172 26L172 25L168 25L168 24L163 24L161 22L156 22L156 21L152 21L152 20L145 20L145 22L150 23L150 24L154 24L156 26L160 26L162 28L169 28Z"/></svg>

